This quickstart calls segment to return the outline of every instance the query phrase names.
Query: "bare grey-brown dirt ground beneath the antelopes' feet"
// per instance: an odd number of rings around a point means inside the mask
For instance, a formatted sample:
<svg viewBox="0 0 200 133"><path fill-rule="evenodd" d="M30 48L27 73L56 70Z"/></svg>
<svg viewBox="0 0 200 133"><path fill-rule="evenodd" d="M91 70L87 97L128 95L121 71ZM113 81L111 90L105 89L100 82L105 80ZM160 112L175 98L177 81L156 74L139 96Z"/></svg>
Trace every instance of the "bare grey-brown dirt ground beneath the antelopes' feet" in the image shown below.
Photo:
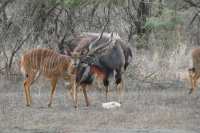
<svg viewBox="0 0 200 133"><path fill-rule="evenodd" d="M198 133L200 90L188 95L184 82L127 80L120 108L103 109L105 93L90 90L90 107L82 93L75 110L59 83L51 108L48 82L32 86L33 104L25 106L22 81L1 81L0 133ZM38 89L40 88L40 89ZM117 99L111 89L109 100Z"/></svg>

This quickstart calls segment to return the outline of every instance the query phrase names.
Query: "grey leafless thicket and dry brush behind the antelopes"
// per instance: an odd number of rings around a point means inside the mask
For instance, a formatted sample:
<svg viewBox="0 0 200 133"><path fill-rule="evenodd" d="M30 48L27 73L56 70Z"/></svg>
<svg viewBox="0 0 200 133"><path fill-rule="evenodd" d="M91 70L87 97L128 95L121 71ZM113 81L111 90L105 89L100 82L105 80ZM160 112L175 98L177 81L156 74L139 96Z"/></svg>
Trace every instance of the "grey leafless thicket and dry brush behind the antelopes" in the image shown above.
<svg viewBox="0 0 200 133"><path fill-rule="evenodd" d="M200 2L1 0L0 74L19 74L19 58L30 48L57 50L72 33L104 26L132 46L132 78L182 79L191 49L200 45Z"/></svg>

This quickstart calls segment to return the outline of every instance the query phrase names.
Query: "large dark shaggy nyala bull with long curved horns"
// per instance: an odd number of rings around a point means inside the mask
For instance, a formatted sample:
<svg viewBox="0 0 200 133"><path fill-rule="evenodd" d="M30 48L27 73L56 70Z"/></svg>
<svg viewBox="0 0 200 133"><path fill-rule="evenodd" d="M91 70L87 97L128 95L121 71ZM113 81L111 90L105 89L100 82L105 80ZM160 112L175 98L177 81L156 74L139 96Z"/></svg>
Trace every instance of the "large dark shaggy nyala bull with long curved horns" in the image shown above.
<svg viewBox="0 0 200 133"><path fill-rule="evenodd" d="M82 85L87 106L89 100L86 88L91 86L94 79L103 82L107 100L109 77L111 76L115 77L119 101L121 102L122 73L127 69L132 59L130 46L119 36L110 33L105 33L102 36L100 33L83 33L68 39L66 44L66 49L62 49L64 46L60 47L60 53L81 55L76 68L76 83L77 87Z"/></svg>

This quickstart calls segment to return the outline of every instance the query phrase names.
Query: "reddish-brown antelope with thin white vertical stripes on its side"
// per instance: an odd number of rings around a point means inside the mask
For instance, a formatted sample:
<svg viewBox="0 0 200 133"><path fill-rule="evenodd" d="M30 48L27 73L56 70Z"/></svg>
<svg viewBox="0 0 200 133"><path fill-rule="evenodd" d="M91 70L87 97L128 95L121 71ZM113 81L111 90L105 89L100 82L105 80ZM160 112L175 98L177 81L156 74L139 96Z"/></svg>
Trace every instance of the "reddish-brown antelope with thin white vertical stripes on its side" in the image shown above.
<svg viewBox="0 0 200 133"><path fill-rule="evenodd" d="M73 76L75 69L71 57L61 55L50 49L32 49L21 57L20 68L25 75L24 92L27 106L30 106L32 103L30 86L40 75L51 81L52 88L48 107L51 107L58 79L68 80L70 82L71 94L72 91L75 91L75 79ZM75 100L75 95L73 98Z"/></svg>

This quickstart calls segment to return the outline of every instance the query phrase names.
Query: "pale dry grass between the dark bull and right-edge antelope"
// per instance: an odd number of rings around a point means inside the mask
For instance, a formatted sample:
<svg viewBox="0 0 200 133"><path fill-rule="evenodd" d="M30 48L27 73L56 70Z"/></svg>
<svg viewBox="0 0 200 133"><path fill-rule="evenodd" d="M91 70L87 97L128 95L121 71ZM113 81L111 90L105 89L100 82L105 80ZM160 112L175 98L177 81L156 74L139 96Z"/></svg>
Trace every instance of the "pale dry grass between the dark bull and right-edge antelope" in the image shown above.
<svg viewBox="0 0 200 133"><path fill-rule="evenodd" d="M131 78L187 80L187 70L192 67L191 49L186 44L180 44L173 50L162 46L134 50L133 68L129 72Z"/></svg>

